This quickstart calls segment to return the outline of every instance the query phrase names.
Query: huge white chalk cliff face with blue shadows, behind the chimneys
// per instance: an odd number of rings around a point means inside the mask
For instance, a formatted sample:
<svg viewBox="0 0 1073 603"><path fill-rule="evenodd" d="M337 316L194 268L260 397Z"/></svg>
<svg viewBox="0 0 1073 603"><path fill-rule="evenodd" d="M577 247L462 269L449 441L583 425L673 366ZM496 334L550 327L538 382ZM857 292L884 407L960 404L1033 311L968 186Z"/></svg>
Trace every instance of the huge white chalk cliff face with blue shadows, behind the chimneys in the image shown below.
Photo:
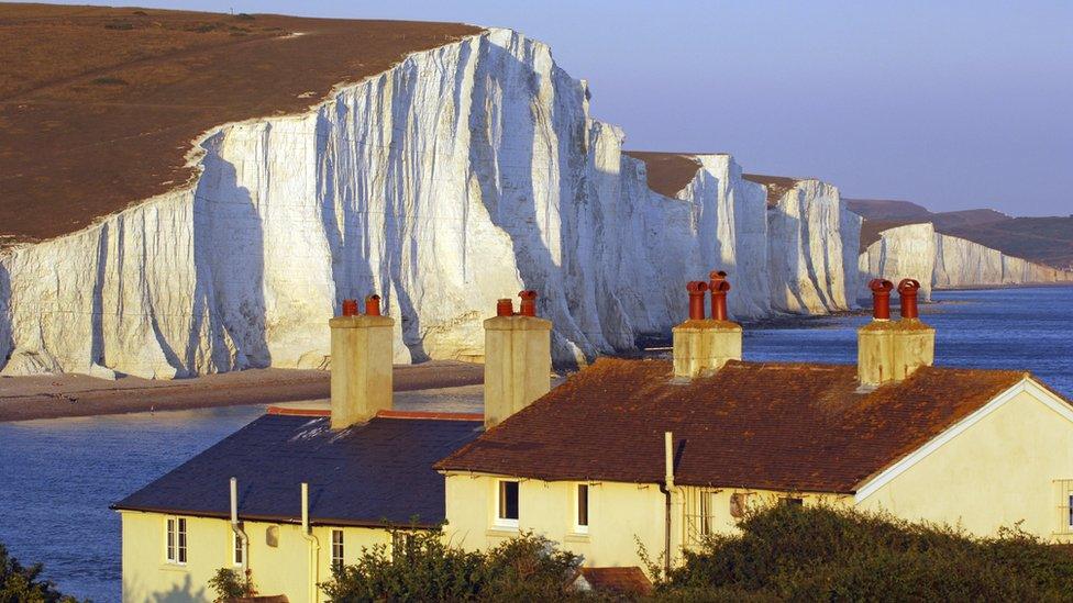
<svg viewBox="0 0 1073 603"><path fill-rule="evenodd" d="M0 256L0 365L319 367L340 300L374 291L400 362L479 357L482 320L521 289L540 291L560 361L667 332L712 268L739 317L851 305L860 221L833 187L804 181L768 209L708 155L671 199L622 141L515 32L413 54L307 113L209 132L195 181Z"/></svg>

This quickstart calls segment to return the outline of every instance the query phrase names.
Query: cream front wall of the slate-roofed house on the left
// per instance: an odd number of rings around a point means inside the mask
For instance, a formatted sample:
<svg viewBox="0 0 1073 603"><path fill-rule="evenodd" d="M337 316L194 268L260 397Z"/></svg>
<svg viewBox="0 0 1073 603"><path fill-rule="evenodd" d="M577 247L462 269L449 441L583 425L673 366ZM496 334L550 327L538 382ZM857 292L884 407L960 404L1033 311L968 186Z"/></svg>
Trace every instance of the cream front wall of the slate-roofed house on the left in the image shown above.
<svg viewBox="0 0 1073 603"><path fill-rule="evenodd" d="M123 601L142 602L211 602L213 591L209 579L218 569L237 568L232 563L231 523L225 520L187 518L187 563L176 566L165 560L165 520L167 515L121 512L123 523ZM279 545L269 547L266 533L269 526L279 528ZM310 545L297 524L243 522L250 538L248 562L254 583L261 594L286 594L291 603L310 601ZM344 527L344 558L357 561L362 547L389 544L386 529ZM331 578L331 527L313 526L320 544L316 582ZM318 592L323 601L323 593Z"/></svg>

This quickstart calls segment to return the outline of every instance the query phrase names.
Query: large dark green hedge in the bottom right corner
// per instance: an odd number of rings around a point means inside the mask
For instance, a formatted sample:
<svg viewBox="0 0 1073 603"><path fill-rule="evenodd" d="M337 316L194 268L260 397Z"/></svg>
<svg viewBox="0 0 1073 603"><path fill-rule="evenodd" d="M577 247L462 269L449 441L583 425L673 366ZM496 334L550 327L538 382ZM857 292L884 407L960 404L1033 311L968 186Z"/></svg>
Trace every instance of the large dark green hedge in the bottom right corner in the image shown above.
<svg viewBox="0 0 1073 603"><path fill-rule="evenodd" d="M750 513L684 551L657 584L676 601L1073 601L1073 555L1019 528L958 528L827 506Z"/></svg>

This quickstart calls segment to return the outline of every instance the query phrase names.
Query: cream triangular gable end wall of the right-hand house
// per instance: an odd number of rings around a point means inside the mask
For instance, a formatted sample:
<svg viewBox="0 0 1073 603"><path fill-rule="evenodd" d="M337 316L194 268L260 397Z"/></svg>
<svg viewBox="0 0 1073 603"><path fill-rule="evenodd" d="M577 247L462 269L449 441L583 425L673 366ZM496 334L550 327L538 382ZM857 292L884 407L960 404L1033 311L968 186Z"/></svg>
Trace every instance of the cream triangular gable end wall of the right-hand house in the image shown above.
<svg viewBox="0 0 1073 603"><path fill-rule="evenodd" d="M1041 402L1049 395L1029 382L859 506L977 535L1022 522L1037 536L1071 541L1055 480L1073 480L1073 422Z"/></svg>

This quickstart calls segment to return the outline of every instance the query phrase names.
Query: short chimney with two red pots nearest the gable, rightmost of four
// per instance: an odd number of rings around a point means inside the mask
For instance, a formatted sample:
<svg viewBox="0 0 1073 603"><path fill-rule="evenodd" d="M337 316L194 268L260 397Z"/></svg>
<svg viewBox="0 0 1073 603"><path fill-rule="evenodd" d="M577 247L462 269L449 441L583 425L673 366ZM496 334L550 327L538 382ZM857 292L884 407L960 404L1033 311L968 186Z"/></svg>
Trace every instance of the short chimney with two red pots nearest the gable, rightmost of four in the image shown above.
<svg viewBox="0 0 1073 603"><path fill-rule="evenodd" d="M873 321L858 331L858 377L863 387L878 387L908 378L921 366L931 366L936 354L936 331L920 322L917 291L920 283L904 279L898 283L901 320L891 321L891 291L894 283L874 279Z"/></svg>

